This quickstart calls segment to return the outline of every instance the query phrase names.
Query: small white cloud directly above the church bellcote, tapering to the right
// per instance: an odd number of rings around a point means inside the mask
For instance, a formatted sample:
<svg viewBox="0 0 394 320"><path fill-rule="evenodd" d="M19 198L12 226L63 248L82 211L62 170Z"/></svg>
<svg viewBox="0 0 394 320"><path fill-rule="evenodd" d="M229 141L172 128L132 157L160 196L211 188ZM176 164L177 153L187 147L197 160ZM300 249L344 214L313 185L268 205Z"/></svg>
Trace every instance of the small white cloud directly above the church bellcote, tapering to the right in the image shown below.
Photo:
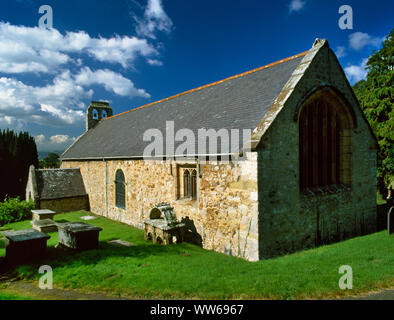
<svg viewBox="0 0 394 320"><path fill-rule="evenodd" d="M77 84L81 85L100 84L104 86L105 90L113 91L120 96L150 97L145 90L135 88L129 79L108 69L92 71L85 67L76 75L75 80Z"/></svg>

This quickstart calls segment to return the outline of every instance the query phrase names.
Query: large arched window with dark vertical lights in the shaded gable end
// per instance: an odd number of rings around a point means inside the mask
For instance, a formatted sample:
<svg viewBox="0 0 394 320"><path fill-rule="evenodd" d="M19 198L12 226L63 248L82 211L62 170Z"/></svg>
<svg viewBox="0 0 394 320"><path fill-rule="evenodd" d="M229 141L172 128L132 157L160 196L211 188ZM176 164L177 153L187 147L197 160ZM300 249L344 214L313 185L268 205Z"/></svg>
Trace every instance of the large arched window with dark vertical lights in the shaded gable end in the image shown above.
<svg viewBox="0 0 394 320"><path fill-rule="evenodd" d="M304 103L299 118L301 191L350 184L351 126L347 105L329 90Z"/></svg>

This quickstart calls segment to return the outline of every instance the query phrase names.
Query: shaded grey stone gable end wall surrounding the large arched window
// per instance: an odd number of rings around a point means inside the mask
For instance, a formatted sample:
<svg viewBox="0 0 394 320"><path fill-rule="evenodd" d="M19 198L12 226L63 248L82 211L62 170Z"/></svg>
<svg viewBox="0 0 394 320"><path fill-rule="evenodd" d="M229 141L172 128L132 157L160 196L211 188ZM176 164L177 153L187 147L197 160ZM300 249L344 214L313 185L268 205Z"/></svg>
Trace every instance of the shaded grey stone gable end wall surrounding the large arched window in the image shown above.
<svg viewBox="0 0 394 320"><path fill-rule="evenodd" d="M299 187L297 115L308 94L326 86L336 88L354 111L351 185L348 191L306 196ZM260 258L339 241L376 228L376 142L332 51L322 47L308 53L284 92L289 98L258 148ZM279 100L276 104L273 107L280 108Z"/></svg>

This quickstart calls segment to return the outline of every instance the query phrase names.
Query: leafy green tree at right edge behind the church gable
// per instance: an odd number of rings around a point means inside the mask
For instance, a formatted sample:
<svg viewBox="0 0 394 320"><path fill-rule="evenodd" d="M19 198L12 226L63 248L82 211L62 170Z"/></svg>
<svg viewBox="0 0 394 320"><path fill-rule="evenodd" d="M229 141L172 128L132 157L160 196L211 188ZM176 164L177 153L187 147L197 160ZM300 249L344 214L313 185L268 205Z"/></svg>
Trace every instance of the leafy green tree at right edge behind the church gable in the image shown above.
<svg viewBox="0 0 394 320"><path fill-rule="evenodd" d="M366 69L367 80L353 89L379 142L378 189L385 197L394 188L394 29L368 58Z"/></svg>

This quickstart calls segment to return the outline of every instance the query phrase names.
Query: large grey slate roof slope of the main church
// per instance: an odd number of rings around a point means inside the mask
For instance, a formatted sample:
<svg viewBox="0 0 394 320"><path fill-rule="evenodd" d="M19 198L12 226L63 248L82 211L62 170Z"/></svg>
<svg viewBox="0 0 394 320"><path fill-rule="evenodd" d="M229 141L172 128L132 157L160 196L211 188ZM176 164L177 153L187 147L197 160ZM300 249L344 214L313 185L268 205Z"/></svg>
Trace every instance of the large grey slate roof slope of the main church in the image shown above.
<svg viewBox="0 0 394 320"><path fill-rule="evenodd" d="M175 132L188 128L196 137L200 128L253 131L305 53L104 119L85 132L61 159L142 157L150 143L143 141L144 132L159 129L165 142L166 121L171 120ZM241 149L242 136L240 142ZM221 153L220 148L216 153Z"/></svg>

